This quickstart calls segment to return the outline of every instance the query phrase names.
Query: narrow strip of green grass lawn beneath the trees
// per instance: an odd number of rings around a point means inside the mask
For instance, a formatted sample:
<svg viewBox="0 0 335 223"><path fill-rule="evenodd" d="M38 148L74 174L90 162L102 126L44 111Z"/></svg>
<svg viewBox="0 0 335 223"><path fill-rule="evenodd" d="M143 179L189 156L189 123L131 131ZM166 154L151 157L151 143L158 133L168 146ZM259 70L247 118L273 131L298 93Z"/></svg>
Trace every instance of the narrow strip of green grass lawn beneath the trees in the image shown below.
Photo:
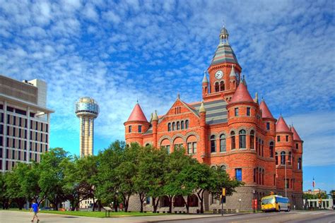
<svg viewBox="0 0 335 223"><path fill-rule="evenodd" d="M10 210L28 212L29 210L18 210L18 208L11 208ZM85 211L58 211L58 210L42 210L41 213L47 214L58 214L58 215L74 215L74 216L84 216L84 217L105 217L105 211L102 212L85 212ZM108 214L107 214L108 215ZM110 212L110 217L131 217L131 216L153 216L153 215L169 215L163 213L153 213L153 212Z"/></svg>

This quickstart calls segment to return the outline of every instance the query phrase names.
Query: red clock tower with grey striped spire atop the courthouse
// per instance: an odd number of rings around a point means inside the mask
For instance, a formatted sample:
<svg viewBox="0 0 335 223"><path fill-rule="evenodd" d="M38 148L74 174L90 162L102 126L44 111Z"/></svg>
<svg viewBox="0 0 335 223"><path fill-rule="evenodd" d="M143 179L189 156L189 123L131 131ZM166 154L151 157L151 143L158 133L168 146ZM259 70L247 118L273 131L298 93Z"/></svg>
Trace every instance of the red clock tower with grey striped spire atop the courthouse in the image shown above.
<svg viewBox="0 0 335 223"><path fill-rule="evenodd" d="M228 31L225 27L220 32L220 43L207 71L209 74L208 93L204 100L223 97L229 101L240 83L242 68L228 42Z"/></svg>

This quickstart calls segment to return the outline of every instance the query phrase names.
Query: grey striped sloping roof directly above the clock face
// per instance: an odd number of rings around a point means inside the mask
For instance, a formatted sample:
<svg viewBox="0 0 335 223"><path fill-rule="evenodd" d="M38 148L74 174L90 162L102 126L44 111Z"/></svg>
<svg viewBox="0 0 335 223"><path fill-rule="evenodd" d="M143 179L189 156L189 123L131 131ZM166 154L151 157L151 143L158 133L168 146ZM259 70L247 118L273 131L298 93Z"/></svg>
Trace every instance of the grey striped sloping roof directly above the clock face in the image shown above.
<svg viewBox="0 0 335 223"><path fill-rule="evenodd" d="M211 61L211 66L221 63L238 64L235 53L228 43L221 43L218 45Z"/></svg>

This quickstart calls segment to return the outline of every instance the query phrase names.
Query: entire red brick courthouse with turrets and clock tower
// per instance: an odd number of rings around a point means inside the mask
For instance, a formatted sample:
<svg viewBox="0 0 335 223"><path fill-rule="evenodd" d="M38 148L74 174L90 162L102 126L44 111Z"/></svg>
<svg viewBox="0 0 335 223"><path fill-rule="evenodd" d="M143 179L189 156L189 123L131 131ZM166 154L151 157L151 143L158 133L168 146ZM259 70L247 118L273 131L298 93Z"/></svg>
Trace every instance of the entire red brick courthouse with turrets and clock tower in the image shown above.
<svg viewBox="0 0 335 223"><path fill-rule="evenodd" d="M226 208L251 210L252 198L271 191L285 195L285 187L292 207L302 208L303 141L282 116L272 116L264 100L259 103L257 94L250 96L225 28L207 71L202 102L187 103L178 96L166 114L154 113L150 121L136 104L124 123L126 142L167 147L170 152L183 146L199 162L244 181L245 186L227 198ZM198 208L198 200L189 199ZM179 200L175 198L174 210L183 208ZM161 210L167 205L161 198ZM219 207L219 201L206 194L205 210Z"/></svg>

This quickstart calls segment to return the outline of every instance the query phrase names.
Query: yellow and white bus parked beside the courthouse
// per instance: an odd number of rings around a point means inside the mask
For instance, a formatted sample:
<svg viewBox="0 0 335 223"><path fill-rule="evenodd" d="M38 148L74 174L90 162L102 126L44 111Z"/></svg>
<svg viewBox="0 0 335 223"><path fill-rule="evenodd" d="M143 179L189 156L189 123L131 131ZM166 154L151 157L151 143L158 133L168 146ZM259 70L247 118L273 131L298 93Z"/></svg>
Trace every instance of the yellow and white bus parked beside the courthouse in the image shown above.
<svg viewBox="0 0 335 223"><path fill-rule="evenodd" d="M261 211L281 212L281 210L290 211L290 200L288 198L281 195L269 195L261 198Z"/></svg>

